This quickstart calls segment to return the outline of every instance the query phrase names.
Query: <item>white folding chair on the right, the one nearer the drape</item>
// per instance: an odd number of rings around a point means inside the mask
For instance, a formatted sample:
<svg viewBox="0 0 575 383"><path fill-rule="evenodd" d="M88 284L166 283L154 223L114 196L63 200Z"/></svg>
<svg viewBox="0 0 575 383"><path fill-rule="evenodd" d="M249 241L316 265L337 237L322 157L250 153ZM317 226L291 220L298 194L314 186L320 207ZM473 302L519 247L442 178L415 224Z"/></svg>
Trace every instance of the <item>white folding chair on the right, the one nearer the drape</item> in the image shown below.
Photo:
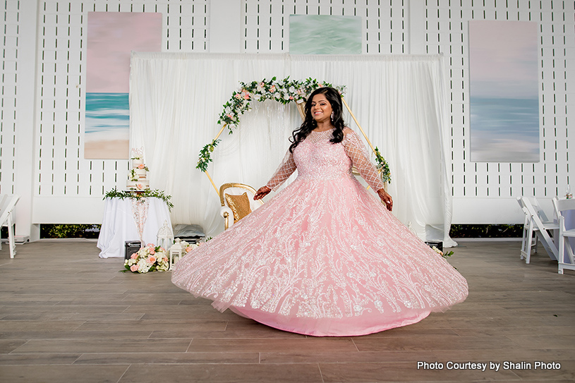
<svg viewBox="0 0 575 383"><path fill-rule="evenodd" d="M523 241L521 241L521 259L525 259L525 263L531 261L531 250L535 250L537 253L537 241L539 240L547 254L552 260L557 259L557 246L553 243L551 236L549 235L550 230L559 229L559 225L554 222L549 222L543 220L540 217L541 211L538 211L533 207L531 202L526 197L517 197L517 202L523 209L525 213L525 223L523 224ZM543 214L543 217L545 215ZM533 233L535 233L535 238L533 238Z"/></svg>

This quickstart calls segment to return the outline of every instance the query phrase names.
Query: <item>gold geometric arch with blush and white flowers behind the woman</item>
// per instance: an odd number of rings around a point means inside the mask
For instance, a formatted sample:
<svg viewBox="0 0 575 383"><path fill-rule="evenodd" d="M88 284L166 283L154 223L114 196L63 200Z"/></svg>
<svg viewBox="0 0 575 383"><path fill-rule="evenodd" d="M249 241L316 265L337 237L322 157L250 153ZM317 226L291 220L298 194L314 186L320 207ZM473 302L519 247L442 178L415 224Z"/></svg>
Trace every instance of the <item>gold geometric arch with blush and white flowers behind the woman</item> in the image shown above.
<svg viewBox="0 0 575 383"><path fill-rule="evenodd" d="M345 91L345 86L333 86L329 83L320 83L319 81L312 78L308 78L303 81L290 80L289 76L284 78L284 80L279 81L277 78L273 77L270 80L263 79L261 81L252 81L251 83L240 82L239 90L234 91L234 93L231 94L229 101L224 104L224 111L222 111L222 114L219 115L217 123L222 125L222 129L219 130L219 133L217 133L212 142L202 147L198 158L198 164L195 166L195 168L200 169L207 175L208 178L210 178L212 186L214 186L214 189L216 189L216 192L219 195L219 190L215 186L214 181L212 181L210 174L207 173L207 166L210 164L210 162L212 162L211 153L214 151L217 144L221 141L219 139L219 135L222 134L224 129L227 127L230 134L234 133L233 128L237 128L239 125L240 116L251 109L250 102L252 101L263 102L267 99L273 99L277 102L281 102L282 104L296 102L298 107L300 107L300 113L302 114L303 118L303 109L301 108L301 104L305 103L308 95L310 95L318 87L334 87L339 91L341 95L343 95ZM368 140L371 149L375 153L377 171L380 172L382 181L384 183L391 183L389 165L382 157L377 147L373 147L373 145L371 145L371 142L359 125L356 117L353 116L353 113L351 113L351 109L349 109L349 106L345 102L343 96L341 97L341 100L344 102L344 105L351 114L351 117L354 121L356 121L358 127L361 130L361 133L363 133L365 139Z"/></svg>

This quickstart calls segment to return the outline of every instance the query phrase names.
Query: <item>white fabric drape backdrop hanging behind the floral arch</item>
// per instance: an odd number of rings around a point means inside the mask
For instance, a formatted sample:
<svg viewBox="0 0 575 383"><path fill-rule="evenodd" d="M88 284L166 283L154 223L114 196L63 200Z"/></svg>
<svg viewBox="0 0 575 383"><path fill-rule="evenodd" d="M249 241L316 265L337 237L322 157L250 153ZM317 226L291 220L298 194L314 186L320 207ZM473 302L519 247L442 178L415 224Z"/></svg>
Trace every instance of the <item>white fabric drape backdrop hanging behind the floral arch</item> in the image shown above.
<svg viewBox="0 0 575 383"><path fill-rule="evenodd" d="M345 85L351 111L389 162L394 214L427 240L449 238L451 175L447 166L444 61L425 56L293 56L133 52L130 76L131 147L143 147L150 187L172 195L174 224L223 230L217 193L195 169L214 138L222 105L239 82L276 76ZM226 182L264 185L301 123L295 105L252 102L253 110L212 154L210 174ZM358 131L349 114L346 123Z"/></svg>

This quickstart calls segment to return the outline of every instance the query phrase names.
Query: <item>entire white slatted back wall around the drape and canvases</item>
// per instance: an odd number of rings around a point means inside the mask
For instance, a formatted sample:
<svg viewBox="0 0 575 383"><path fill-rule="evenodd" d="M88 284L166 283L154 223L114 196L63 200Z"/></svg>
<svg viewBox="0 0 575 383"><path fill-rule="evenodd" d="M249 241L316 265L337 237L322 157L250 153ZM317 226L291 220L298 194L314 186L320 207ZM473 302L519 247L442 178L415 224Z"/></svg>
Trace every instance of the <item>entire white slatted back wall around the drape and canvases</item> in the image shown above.
<svg viewBox="0 0 575 383"><path fill-rule="evenodd" d="M452 190L455 223L521 221L514 197L541 200L564 193L575 146L574 1L538 0L241 0L241 51L289 51L289 15L362 18L364 54L442 53L447 60ZM126 161L83 159L87 13L161 12L163 51L210 51L210 0L41 0L35 73L20 73L22 0L0 4L3 63L0 95L0 193L13 193L18 169L18 113L35 105L32 145L34 223L54 221L66 199L96 200L123 186ZM539 23L541 162L473 163L469 160L469 20ZM20 72L19 72L20 71ZM35 78L36 99L17 104L17 76ZM29 137L28 137L29 135ZM575 188L575 185L572 185ZM86 217L90 217L87 219ZM68 223L97 219L77 209ZM61 222L61 220L58 220ZM56 222L56 221L54 221Z"/></svg>

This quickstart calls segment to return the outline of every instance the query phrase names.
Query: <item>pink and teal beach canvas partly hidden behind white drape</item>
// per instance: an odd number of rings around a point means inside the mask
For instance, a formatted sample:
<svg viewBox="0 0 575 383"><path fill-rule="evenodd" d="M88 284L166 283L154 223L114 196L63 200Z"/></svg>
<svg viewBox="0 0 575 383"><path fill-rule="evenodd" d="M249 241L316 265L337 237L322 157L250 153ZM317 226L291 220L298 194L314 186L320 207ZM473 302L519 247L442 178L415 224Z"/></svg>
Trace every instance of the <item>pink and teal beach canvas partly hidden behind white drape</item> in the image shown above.
<svg viewBox="0 0 575 383"><path fill-rule="evenodd" d="M84 157L127 159L131 51L161 51L162 13L88 12Z"/></svg>

